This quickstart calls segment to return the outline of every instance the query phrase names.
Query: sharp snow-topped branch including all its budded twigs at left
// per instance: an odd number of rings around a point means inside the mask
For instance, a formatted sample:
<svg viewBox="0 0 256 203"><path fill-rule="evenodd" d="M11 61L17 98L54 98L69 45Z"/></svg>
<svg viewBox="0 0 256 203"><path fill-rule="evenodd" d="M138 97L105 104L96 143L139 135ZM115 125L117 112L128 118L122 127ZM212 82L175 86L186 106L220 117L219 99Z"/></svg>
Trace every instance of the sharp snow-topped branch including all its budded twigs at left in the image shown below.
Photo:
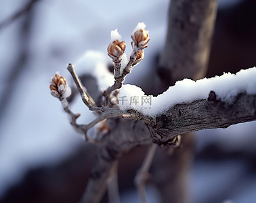
<svg viewBox="0 0 256 203"><path fill-rule="evenodd" d="M173 142L177 135L200 129L228 127L230 125L256 120L256 68L240 70L236 74L225 73L222 76L203 78L198 81L184 79L169 87L167 91L153 97L135 85L123 85L125 76L131 72L135 64L144 58L143 49L148 46L148 31L145 24L140 23L133 30L133 52L127 65L121 69L125 42L114 30L108 45L108 55L114 65L114 85L102 93L102 106L97 106L93 98L84 89L72 64L68 70L77 85L81 97L89 108L98 112L99 117L88 125L77 125L77 114L73 114L65 103L66 95L61 88L68 86L66 79L58 76L51 81L51 93L62 101L64 109L72 118L71 124L80 129L85 137L87 130L106 118L119 117L141 120L150 128L152 141L159 145ZM60 82L56 80L60 80ZM95 90L95 91L98 91ZM112 97L114 97L114 102Z"/></svg>

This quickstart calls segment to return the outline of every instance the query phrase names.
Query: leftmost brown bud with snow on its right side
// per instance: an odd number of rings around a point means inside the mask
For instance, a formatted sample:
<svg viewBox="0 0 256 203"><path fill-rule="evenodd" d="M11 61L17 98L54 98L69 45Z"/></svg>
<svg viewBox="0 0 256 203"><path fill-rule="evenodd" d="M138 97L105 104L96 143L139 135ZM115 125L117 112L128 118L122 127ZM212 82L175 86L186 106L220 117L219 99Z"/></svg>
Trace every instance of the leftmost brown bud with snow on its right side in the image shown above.
<svg viewBox="0 0 256 203"><path fill-rule="evenodd" d="M66 79L58 73L51 78L49 89L51 90L51 95L58 98L66 98L71 94L71 90L68 83L66 83Z"/></svg>

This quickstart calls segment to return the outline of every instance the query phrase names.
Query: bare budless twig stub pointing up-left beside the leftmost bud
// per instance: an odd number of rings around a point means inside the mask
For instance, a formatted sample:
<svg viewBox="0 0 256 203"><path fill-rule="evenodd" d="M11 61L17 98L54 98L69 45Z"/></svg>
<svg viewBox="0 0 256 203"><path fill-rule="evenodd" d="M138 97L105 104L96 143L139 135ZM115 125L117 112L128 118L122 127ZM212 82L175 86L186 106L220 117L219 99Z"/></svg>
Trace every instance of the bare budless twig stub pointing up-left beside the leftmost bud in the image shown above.
<svg viewBox="0 0 256 203"><path fill-rule="evenodd" d="M89 93L85 93L85 90L83 89L83 85L81 84L81 81L79 80L79 77L77 76L77 73L74 71L73 64L68 64L68 71L72 75L74 83L77 85L77 89L79 89L79 93L82 97L83 103L85 103L85 105L88 108L91 108L91 106L96 106L95 101L89 95Z"/></svg>

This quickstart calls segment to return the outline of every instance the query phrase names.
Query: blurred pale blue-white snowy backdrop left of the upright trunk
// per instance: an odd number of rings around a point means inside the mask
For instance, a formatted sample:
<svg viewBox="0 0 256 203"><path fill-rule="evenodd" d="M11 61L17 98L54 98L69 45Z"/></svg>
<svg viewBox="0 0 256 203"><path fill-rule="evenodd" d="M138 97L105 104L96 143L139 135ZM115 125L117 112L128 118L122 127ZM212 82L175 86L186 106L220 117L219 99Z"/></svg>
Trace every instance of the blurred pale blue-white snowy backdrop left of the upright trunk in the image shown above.
<svg viewBox="0 0 256 203"><path fill-rule="evenodd" d="M226 6L227 2L222 0L220 5ZM98 1L79 0L39 1L33 16L31 37L26 45L28 60L16 81L6 81L6 77L22 49L19 32L24 19L20 18L0 30L0 98L7 85L15 83L0 117L0 198L10 185L22 179L28 168L60 162L81 144L79 135L68 124L60 102L49 93L49 80L56 71L70 81L66 64L79 62L86 50L105 54L110 30L115 28L119 28L119 33L127 41L129 53L128 42L137 22L145 22L146 29L150 30L150 43L145 50L143 66L135 68L127 76L127 83L138 83L142 75L146 76L150 55L162 49L169 1L132 0L121 3L114 0L111 3L102 1L100 7L98 4ZM3 0L0 22L23 5L24 1ZM106 62L109 61L106 55ZM88 67L93 65L90 61L87 63ZM75 103L72 110L82 113L81 122L89 122L93 117L84 116L89 111L81 99L77 98ZM248 124L246 128L251 126ZM239 136L237 138L240 139Z"/></svg>

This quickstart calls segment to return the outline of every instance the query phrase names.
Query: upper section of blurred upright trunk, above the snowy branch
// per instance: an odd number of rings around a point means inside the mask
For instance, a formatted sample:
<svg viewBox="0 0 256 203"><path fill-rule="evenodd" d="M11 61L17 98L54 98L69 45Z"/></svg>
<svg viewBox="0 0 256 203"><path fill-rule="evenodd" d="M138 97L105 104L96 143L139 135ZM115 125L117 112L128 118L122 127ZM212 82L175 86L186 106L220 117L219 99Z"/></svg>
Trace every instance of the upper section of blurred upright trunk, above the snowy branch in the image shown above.
<svg viewBox="0 0 256 203"><path fill-rule="evenodd" d="M171 1L167 41L158 67L167 87L183 78L205 76L216 14L217 0Z"/></svg>

